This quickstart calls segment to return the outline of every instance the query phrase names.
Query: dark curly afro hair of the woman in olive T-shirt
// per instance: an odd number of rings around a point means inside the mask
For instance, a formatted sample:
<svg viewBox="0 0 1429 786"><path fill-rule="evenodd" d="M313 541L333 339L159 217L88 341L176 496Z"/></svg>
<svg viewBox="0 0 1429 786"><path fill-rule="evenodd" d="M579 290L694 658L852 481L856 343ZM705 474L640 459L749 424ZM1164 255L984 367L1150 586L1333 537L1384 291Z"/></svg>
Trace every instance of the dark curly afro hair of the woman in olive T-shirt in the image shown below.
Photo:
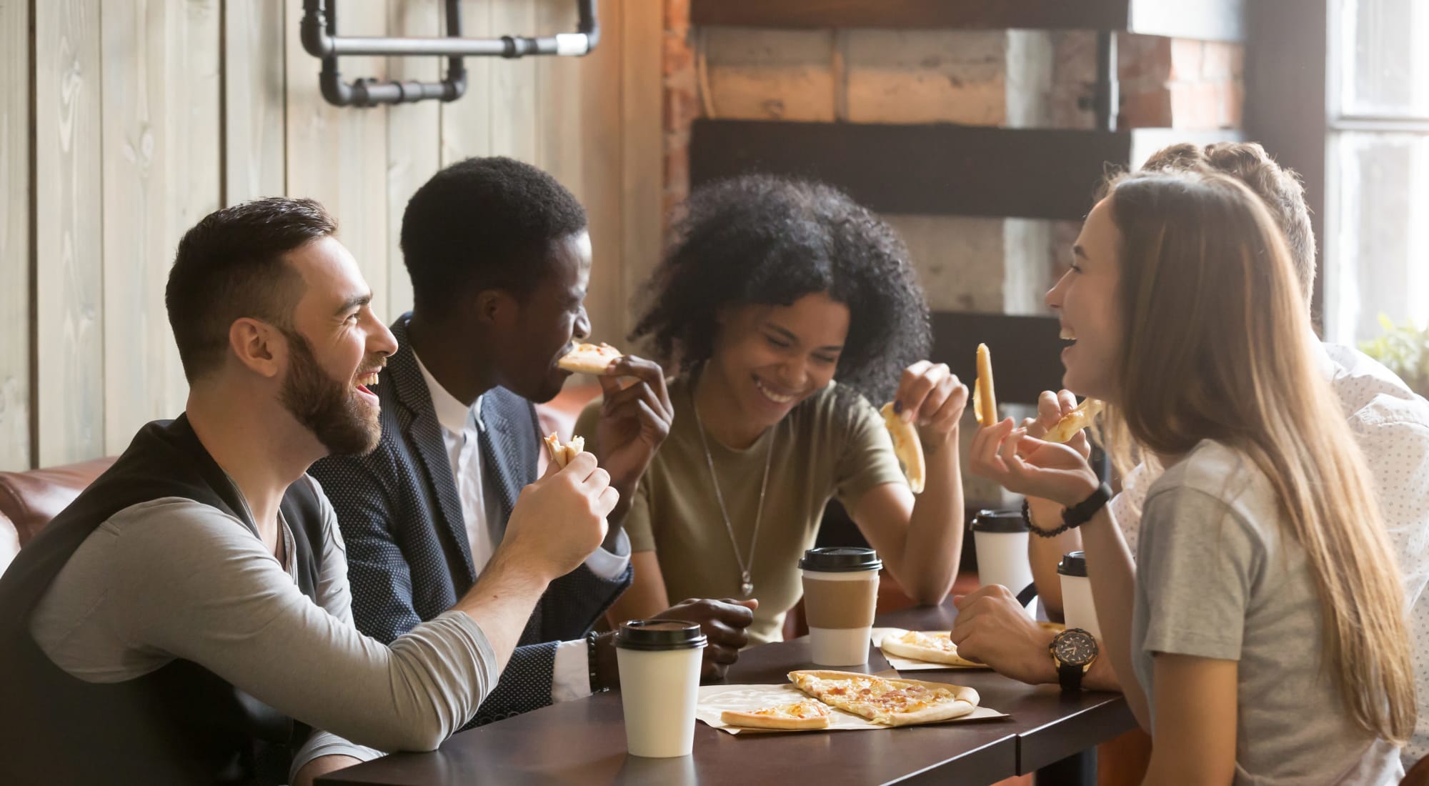
<svg viewBox="0 0 1429 786"><path fill-rule="evenodd" d="M750 174L696 190L686 207L630 334L649 339L666 367L687 373L713 354L723 306L787 306L813 293L849 307L835 372L845 389L883 400L927 356L927 303L907 247L843 191Z"/></svg>

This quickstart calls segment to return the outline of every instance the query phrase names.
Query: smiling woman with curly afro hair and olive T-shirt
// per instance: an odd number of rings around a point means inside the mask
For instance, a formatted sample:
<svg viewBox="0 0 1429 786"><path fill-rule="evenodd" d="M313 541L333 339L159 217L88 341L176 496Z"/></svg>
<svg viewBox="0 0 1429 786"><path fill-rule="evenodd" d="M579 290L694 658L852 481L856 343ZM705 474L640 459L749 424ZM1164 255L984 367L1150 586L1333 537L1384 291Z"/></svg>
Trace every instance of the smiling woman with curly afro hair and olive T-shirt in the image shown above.
<svg viewBox="0 0 1429 786"><path fill-rule="evenodd" d="M634 584L612 619L735 597L755 607L750 643L779 640L830 497L909 596L942 602L962 550L967 389L923 360L927 304L893 229L825 184L714 183L690 196L644 297L632 340L676 370L674 419L623 520ZM916 497L875 409L890 400L922 437Z"/></svg>

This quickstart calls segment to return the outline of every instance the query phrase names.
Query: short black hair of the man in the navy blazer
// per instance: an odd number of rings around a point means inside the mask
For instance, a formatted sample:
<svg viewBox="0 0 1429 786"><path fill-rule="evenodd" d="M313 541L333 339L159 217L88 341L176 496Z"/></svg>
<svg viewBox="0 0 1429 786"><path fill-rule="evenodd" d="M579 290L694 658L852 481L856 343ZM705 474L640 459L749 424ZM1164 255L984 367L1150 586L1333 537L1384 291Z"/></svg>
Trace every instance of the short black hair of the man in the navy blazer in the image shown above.
<svg viewBox="0 0 1429 786"><path fill-rule="evenodd" d="M447 313L486 289L529 294L550 246L586 229L586 209L550 174L514 159L457 161L402 216L402 259L416 307Z"/></svg>

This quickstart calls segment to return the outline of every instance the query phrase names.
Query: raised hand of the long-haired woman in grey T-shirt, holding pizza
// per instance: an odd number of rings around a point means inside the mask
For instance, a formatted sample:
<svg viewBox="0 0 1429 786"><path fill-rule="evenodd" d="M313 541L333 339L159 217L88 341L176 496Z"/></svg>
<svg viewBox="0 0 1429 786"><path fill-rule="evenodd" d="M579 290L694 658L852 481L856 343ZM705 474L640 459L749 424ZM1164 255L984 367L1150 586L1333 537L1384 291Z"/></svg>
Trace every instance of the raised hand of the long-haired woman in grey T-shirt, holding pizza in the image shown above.
<svg viewBox="0 0 1429 786"><path fill-rule="evenodd" d="M1080 503L1100 484L1080 453L1027 436L1010 417L977 429L967 466L1012 493L1047 499L1063 507Z"/></svg>

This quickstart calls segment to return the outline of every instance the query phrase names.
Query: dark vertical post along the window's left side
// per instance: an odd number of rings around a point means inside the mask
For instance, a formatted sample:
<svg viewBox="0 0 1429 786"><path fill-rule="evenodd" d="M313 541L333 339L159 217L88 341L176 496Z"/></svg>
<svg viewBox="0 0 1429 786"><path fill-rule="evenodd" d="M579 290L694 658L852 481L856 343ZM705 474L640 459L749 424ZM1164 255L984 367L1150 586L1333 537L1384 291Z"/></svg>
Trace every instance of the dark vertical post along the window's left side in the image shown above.
<svg viewBox="0 0 1429 786"><path fill-rule="evenodd" d="M1329 73L1326 0L1255 0L1246 19L1246 139L1300 174L1310 207L1320 274L1313 314L1323 327L1326 81Z"/></svg>

